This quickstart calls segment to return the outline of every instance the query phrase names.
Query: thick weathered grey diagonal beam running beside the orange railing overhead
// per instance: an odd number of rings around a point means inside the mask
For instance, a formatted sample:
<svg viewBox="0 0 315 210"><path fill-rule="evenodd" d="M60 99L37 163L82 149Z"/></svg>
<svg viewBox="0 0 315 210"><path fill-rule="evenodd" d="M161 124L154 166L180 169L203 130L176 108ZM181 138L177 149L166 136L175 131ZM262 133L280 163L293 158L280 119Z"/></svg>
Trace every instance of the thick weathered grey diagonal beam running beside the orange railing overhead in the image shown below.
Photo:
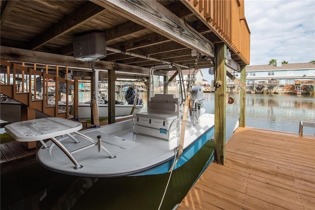
<svg viewBox="0 0 315 210"><path fill-rule="evenodd" d="M190 29L183 20L157 1L95 0L93 2L203 55L214 58L212 43L206 41L200 33ZM159 14L163 14L163 18L160 18Z"/></svg>

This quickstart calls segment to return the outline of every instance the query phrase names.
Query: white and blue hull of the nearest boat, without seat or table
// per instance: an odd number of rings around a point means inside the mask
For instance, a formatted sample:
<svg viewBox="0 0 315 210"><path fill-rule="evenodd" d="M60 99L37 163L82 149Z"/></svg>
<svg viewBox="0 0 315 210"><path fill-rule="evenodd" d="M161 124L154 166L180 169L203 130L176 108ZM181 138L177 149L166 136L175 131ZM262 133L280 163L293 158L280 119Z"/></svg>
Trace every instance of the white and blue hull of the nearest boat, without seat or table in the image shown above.
<svg viewBox="0 0 315 210"><path fill-rule="evenodd" d="M91 143L86 143L79 137L77 139L80 144L75 144L70 138L63 137L58 141L73 152L73 157L82 168L76 169L63 151L51 141L47 142L48 149L42 148L37 152L38 162L49 170L82 177L155 175L168 172L174 161L174 149L179 145L179 137L165 141L133 133L132 120L88 129L82 133L94 139L101 136L102 145L116 157L110 158L103 151L97 152L97 146L75 152ZM214 115L200 116L200 122L185 131L184 152L174 169L184 165L213 133Z"/></svg>

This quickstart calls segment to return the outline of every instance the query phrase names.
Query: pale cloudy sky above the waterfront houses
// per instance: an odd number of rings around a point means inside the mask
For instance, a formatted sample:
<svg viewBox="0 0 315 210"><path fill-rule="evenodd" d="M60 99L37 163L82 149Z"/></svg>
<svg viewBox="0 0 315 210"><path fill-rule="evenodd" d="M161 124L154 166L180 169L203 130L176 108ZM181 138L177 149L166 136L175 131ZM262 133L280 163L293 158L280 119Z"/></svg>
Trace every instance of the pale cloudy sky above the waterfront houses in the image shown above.
<svg viewBox="0 0 315 210"><path fill-rule="evenodd" d="M315 60L315 0L245 0L251 64Z"/></svg>

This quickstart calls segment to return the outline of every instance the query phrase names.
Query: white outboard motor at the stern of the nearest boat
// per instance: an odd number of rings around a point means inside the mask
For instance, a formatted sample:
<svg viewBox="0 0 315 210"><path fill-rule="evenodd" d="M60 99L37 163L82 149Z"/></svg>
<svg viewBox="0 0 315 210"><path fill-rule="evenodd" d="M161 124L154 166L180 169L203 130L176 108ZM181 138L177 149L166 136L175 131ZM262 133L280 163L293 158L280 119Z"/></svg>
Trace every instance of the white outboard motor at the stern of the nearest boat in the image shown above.
<svg viewBox="0 0 315 210"><path fill-rule="evenodd" d="M200 104L203 102L203 90L200 85L193 86L191 89L191 99L192 99L192 117L193 124L195 120L199 121L200 116Z"/></svg>

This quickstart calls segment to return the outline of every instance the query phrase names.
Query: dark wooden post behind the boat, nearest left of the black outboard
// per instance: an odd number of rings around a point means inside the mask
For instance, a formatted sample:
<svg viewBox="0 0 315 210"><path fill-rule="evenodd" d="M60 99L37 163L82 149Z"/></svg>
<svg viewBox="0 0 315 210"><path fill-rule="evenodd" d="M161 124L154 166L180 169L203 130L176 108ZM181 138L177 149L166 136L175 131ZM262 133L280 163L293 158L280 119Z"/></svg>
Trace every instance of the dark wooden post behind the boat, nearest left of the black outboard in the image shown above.
<svg viewBox="0 0 315 210"><path fill-rule="evenodd" d="M108 70L108 124L115 123L115 71Z"/></svg>

